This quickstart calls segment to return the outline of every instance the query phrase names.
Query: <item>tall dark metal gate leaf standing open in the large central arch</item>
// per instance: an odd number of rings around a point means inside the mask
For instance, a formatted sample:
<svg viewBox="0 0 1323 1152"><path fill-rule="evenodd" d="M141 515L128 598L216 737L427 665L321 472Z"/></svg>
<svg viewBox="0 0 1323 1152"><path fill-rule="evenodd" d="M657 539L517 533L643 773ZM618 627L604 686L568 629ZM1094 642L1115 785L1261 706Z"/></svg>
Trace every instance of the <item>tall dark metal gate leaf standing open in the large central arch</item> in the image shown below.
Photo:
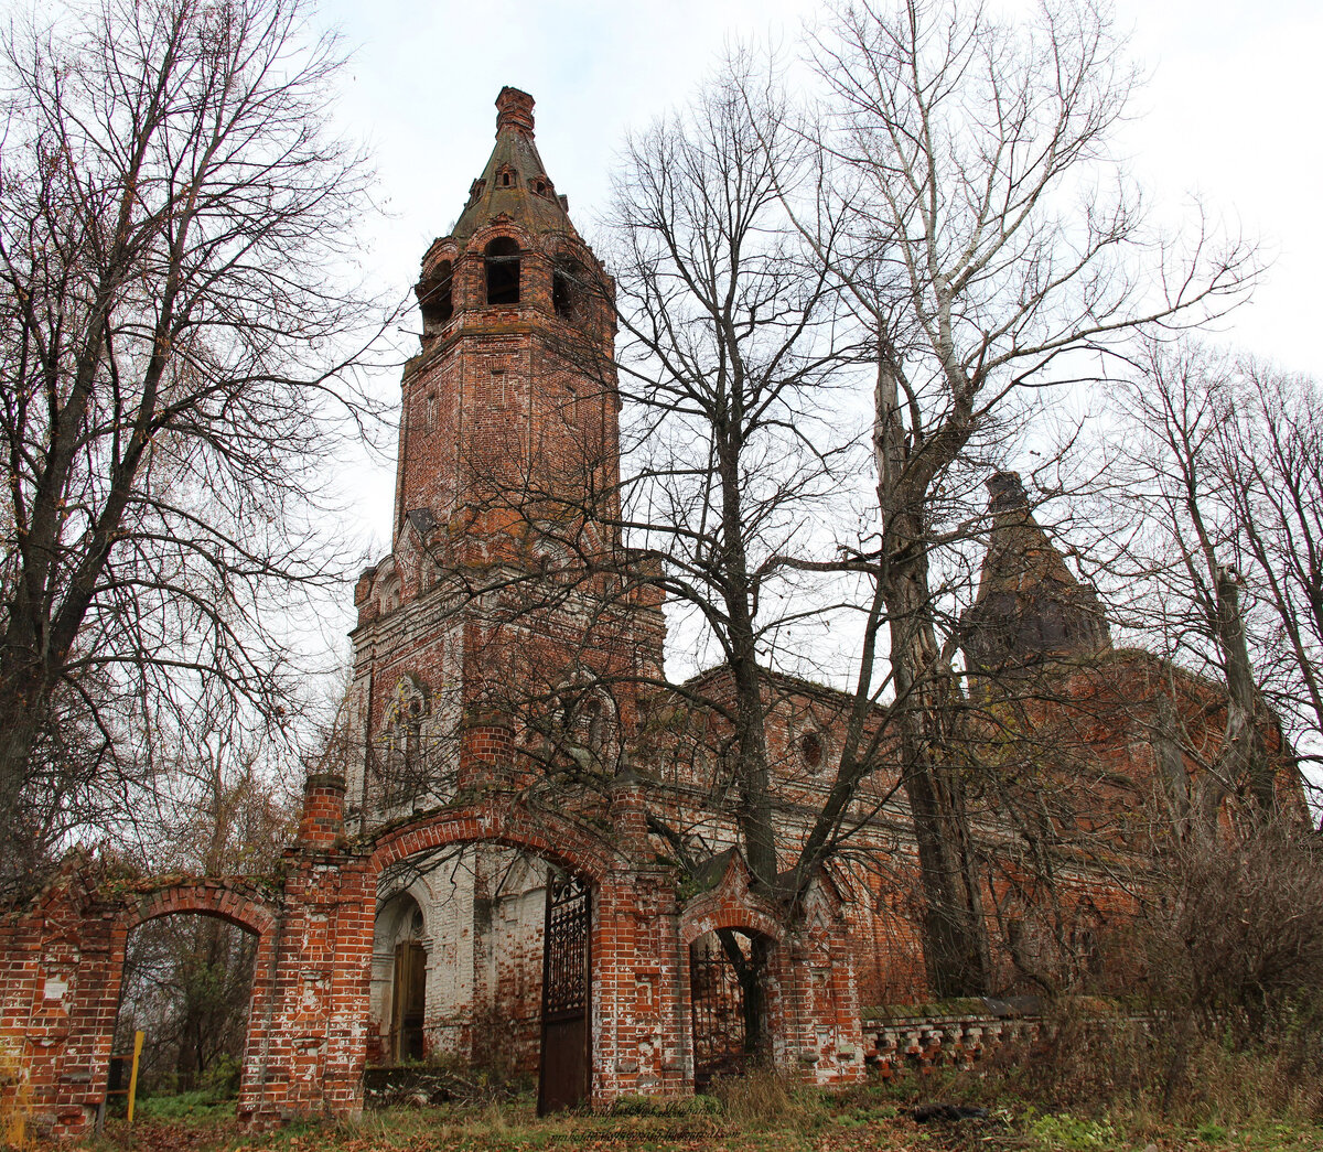
<svg viewBox="0 0 1323 1152"><path fill-rule="evenodd" d="M591 891L587 882L553 872L546 882L542 944L542 1058L537 1115L573 1108L587 1098L590 1067Z"/></svg>

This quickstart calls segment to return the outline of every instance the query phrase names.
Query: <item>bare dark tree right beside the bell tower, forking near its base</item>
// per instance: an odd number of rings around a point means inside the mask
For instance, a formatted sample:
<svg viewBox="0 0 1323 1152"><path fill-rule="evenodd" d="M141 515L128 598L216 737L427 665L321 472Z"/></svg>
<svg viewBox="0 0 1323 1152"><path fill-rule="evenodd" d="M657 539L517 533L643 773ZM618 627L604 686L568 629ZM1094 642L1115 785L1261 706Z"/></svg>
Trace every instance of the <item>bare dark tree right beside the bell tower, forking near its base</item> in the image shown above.
<svg viewBox="0 0 1323 1152"><path fill-rule="evenodd" d="M831 265L783 202L812 176L811 149L775 86L753 95L753 71L736 54L687 114L632 139L617 184L618 362L632 402L624 528L687 639L721 669L672 692L704 717L695 749L720 747L706 775L718 807L733 804L750 870L792 914L857 828L860 786L885 763L885 676L872 659L880 599L865 585L860 604L857 579L824 581L859 567L839 555L833 528L848 517L841 497L860 455L848 405L833 399L852 349ZM831 238L819 241L830 251ZM814 645L832 620L863 630L864 657L831 706L843 739L826 783L800 798L811 812L787 837L778 794L789 770L769 743L769 713L787 671L820 667ZM665 754L683 757L683 739L668 738ZM665 820L655 813L654 831L701 865L703 849Z"/></svg>

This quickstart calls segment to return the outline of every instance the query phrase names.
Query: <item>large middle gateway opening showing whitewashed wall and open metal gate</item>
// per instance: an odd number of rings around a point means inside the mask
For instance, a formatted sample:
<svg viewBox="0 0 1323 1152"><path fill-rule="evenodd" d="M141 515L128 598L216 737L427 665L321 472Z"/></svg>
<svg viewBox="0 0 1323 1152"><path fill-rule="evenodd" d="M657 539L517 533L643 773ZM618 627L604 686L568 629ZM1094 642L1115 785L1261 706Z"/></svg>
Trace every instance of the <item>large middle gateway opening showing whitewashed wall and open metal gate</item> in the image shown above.
<svg viewBox="0 0 1323 1152"><path fill-rule="evenodd" d="M546 1114L591 1091L601 848L519 819L515 835L447 817L378 844L368 1055L467 1059L536 1085Z"/></svg>

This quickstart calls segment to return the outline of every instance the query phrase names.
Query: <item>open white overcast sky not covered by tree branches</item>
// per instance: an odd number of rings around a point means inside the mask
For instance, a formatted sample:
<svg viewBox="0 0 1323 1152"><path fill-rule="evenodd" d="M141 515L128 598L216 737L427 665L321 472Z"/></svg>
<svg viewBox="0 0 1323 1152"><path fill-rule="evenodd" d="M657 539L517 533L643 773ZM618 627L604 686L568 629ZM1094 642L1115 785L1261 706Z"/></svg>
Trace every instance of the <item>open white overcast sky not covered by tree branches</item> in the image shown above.
<svg viewBox="0 0 1323 1152"><path fill-rule="evenodd" d="M789 44L819 11L802 0L331 0L323 13L355 50L341 112L376 153L390 213L373 226L368 262L381 283L413 284L487 160L503 85L536 98L542 159L591 239L623 134L683 103L728 37ZM1117 12L1151 77L1118 140L1131 173L1164 216L1197 193L1273 261L1222 339L1323 376L1323 5L1119 0ZM393 479L385 466L364 485L382 549Z"/></svg>

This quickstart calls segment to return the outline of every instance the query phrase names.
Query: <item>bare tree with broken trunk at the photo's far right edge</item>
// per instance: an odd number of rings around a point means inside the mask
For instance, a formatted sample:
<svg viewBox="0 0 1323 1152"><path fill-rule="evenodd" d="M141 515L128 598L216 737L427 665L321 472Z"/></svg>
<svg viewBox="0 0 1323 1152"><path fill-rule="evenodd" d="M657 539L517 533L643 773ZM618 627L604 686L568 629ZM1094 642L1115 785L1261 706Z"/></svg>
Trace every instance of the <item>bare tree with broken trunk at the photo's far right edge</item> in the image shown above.
<svg viewBox="0 0 1323 1152"><path fill-rule="evenodd" d="M1304 745L1319 731L1316 389L1183 343L1151 345L1119 395L1135 623L1226 697L1185 813L1208 837L1229 799L1258 817L1277 807L1278 717Z"/></svg>

